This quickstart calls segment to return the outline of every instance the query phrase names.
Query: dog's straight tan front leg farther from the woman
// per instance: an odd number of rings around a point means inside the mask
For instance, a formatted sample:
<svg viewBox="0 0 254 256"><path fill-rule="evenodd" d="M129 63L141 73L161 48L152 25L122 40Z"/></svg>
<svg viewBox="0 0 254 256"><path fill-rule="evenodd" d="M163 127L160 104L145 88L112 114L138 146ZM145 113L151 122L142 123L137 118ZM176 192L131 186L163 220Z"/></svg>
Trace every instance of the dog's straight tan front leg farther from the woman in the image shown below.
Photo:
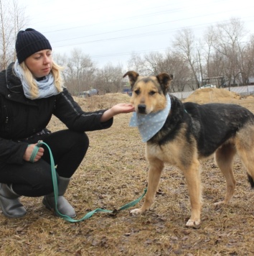
<svg viewBox="0 0 254 256"><path fill-rule="evenodd" d="M200 224L201 214L201 180L199 171L199 161L196 160L192 165L184 170L184 176L187 180L187 186L189 190L189 197L192 207L192 215L187 221L187 227L194 227Z"/></svg>

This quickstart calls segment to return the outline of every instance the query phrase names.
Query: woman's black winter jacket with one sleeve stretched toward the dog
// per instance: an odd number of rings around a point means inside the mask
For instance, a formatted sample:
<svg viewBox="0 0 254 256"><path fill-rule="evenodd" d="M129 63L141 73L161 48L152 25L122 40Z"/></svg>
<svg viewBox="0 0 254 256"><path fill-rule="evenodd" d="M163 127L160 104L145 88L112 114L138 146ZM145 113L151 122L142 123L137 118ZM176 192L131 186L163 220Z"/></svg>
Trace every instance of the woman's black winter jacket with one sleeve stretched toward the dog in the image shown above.
<svg viewBox="0 0 254 256"><path fill-rule="evenodd" d="M0 73L0 161L24 163L28 143L17 141L41 132L52 114L76 132L106 129L113 124L113 118L100 122L105 110L84 112L66 88L57 96L27 99L21 81L13 73L13 65Z"/></svg>

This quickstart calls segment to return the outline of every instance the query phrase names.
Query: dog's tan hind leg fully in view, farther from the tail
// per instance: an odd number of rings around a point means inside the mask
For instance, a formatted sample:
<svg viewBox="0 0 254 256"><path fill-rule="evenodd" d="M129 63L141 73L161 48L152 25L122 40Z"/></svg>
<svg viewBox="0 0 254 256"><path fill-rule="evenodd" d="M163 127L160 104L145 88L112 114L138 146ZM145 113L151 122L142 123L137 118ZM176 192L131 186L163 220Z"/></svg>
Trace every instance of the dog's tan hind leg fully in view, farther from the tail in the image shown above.
<svg viewBox="0 0 254 256"><path fill-rule="evenodd" d="M215 161L220 168L222 174L224 175L227 183L227 192L225 194L224 200L215 203L215 205L228 204L234 194L236 182L234 173L232 171L232 163L235 153L235 145L232 145L231 143L222 145L215 152Z"/></svg>

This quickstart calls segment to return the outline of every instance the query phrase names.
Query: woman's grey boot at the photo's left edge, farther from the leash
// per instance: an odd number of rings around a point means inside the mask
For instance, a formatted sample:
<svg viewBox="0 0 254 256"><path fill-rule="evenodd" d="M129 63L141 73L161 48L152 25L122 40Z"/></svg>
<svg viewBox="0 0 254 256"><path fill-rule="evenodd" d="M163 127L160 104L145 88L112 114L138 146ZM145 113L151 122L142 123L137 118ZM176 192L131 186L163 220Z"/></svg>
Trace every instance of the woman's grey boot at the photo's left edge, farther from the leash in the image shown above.
<svg viewBox="0 0 254 256"><path fill-rule="evenodd" d="M13 191L11 185L0 183L0 206L3 214L9 218L19 218L27 214L19 201L19 195Z"/></svg>

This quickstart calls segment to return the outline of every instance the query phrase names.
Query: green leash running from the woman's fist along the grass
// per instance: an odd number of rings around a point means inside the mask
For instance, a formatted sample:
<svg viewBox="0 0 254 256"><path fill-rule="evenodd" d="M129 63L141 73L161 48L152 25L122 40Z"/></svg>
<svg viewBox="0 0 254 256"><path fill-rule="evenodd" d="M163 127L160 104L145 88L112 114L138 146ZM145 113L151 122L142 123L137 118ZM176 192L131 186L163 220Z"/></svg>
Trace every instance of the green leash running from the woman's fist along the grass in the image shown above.
<svg viewBox="0 0 254 256"><path fill-rule="evenodd" d="M83 218L81 218L81 219L72 219L70 216L61 214L58 211L58 209L57 209L57 198L58 198L57 175L56 175L56 170L55 170L55 162L54 162L54 158L53 158L52 152L50 150L50 147L45 142L39 141L37 143L36 147L34 147L34 150L32 152L32 155L31 155L29 161L34 163L34 157L37 155L37 152L38 152L39 147L41 145L45 145L47 147L47 149L49 150L49 152L50 152L50 165L51 165L51 172L52 172L52 183L53 183L54 194L55 194L55 211L57 212L57 214L62 219L65 219L65 221L69 221L69 222L72 222L72 223L84 221L85 219L89 219L91 216L93 216L93 214L98 213L98 212L106 212L108 214L116 215L118 213L118 211L123 211L123 210L128 209L128 208L130 208L132 206L135 206L146 195L147 188L145 188L144 193L143 193L143 195L141 197L139 197L138 199L132 201L131 203L128 203L128 204L126 204L124 206L121 206L121 208L119 208L119 209L114 209L113 211L105 210L105 209L95 209L94 211L88 212L88 214L83 216Z"/></svg>

